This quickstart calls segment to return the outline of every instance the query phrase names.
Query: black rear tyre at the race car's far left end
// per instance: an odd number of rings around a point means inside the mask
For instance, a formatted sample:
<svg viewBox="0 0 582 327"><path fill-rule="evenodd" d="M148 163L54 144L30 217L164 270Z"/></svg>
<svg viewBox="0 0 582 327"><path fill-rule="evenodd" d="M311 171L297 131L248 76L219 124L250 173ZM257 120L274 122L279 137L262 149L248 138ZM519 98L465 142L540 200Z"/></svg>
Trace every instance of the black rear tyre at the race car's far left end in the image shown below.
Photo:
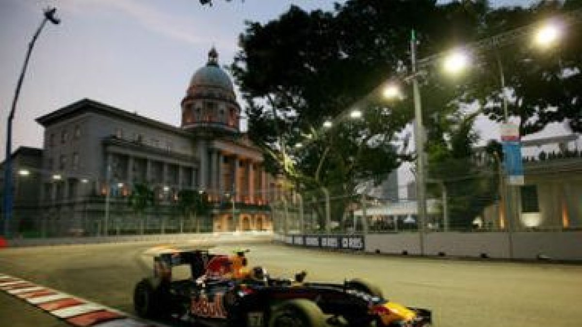
<svg viewBox="0 0 582 327"><path fill-rule="evenodd" d="M142 279L133 291L133 308L142 318L165 317L165 294L160 285L149 279ZM159 283L158 283L159 284Z"/></svg>

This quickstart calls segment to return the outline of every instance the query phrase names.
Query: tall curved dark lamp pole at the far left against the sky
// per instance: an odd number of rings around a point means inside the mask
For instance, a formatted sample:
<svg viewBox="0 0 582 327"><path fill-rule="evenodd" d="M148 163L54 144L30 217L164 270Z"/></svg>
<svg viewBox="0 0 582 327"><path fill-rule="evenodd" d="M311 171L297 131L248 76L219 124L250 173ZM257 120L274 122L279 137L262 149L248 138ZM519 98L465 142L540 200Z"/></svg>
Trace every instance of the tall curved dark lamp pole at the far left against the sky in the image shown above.
<svg viewBox="0 0 582 327"><path fill-rule="evenodd" d="M18 102L18 97L20 95L20 88L22 87L22 82L24 81L24 74L29 65L30 54L33 51L34 43L36 42L38 35L42 31L42 28L47 23L47 20L53 24L58 24L61 22L60 19L55 17L56 8L44 10L44 17L36 33L33 35L32 41L29 43L29 49L26 52L26 58L24 59L24 65L22 66L22 72L20 72L20 77L18 83L16 84L16 91L14 98L12 99L12 107L10 108L10 113L8 115L8 122L6 123L6 159L4 162L4 236L8 238L10 236L10 220L12 219L12 206L13 206L13 190L12 190L12 120L14 119L14 113L16 111L16 102Z"/></svg>

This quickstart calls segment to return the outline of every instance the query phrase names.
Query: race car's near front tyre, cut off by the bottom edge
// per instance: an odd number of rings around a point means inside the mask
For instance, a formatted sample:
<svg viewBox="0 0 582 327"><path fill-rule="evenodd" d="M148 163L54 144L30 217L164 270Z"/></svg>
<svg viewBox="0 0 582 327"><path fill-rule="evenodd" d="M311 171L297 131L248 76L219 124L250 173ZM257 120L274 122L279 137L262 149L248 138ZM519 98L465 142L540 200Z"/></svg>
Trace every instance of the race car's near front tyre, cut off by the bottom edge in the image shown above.
<svg viewBox="0 0 582 327"><path fill-rule="evenodd" d="M323 327L325 317L310 300L288 300L279 305L269 319L269 327Z"/></svg>

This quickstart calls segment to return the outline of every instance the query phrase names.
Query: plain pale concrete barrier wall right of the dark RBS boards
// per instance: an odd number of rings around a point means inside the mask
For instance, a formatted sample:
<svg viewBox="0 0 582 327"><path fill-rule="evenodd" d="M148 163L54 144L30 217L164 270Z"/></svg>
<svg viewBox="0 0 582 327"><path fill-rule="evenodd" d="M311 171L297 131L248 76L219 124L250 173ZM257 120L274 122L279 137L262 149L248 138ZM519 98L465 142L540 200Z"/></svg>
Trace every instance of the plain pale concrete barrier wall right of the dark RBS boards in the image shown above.
<svg viewBox="0 0 582 327"><path fill-rule="evenodd" d="M553 260L582 261L582 232L509 233L427 233L426 255L451 257L536 259L544 255ZM513 254L510 251L512 244ZM411 255L420 254L417 233L370 234L365 237L365 251Z"/></svg>

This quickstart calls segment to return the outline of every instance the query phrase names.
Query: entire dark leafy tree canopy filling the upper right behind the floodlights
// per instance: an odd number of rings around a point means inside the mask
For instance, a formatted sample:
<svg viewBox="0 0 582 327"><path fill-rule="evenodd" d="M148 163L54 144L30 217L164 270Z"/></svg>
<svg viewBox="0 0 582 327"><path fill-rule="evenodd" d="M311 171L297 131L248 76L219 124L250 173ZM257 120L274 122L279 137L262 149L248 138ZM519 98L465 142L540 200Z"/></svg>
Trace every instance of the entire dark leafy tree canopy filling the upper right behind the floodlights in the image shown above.
<svg viewBox="0 0 582 327"><path fill-rule="evenodd" d="M251 140L269 154L271 172L307 189L353 194L362 181L379 182L410 159L398 141L413 118L411 96L388 102L377 95L389 78L410 74L411 30L417 34L418 58L424 58L580 8L580 2L492 9L484 0L349 0L332 12L292 6L271 22L247 22L231 70L246 101ZM453 130L433 122L459 116L467 104L477 104L473 110L493 120L503 119L496 58L511 94L509 115L520 118L522 133L551 122L581 131L578 30L569 30L560 47L544 54L526 46L525 37L487 49L461 79L430 67L421 83L428 133L450 138ZM360 109L362 118L349 119L350 109ZM333 127L323 129L328 119ZM470 144L472 127L463 130ZM297 149L297 143L303 147ZM441 150L459 147L441 143Z"/></svg>

